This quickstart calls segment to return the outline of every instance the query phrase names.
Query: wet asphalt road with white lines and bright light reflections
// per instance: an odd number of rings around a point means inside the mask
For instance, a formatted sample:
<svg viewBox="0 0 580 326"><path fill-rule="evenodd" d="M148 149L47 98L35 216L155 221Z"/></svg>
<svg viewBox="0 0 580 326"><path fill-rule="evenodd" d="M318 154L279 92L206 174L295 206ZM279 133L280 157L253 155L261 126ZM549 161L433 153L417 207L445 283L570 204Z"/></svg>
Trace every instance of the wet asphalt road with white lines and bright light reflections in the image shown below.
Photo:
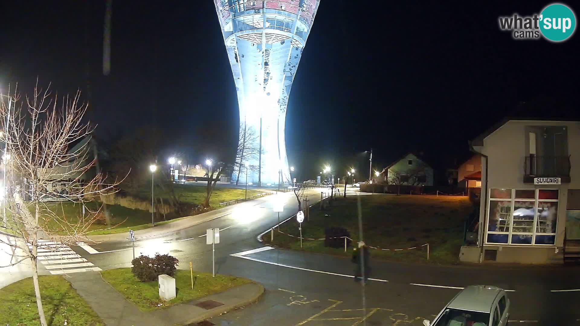
<svg viewBox="0 0 580 326"><path fill-rule="evenodd" d="M320 190L309 194L310 204L320 199ZM292 193L282 197L287 201L280 214L284 220L298 205ZM169 253L180 260L180 268L187 269L192 262L196 270L211 271L212 246L206 245L203 235L206 229L219 227L216 273L251 278L267 291L259 303L213 318L216 325L422 325L458 288L470 284L513 290L508 294L512 324L580 325L580 291L553 292L580 289L577 267L433 266L371 260L375 280L362 287L351 277L354 266L348 259L279 249L240 253L264 247L256 236L278 222L272 202L273 196L267 196L236 204L227 215L209 222L143 238L136 241L136 253ZM129 241L92 247L103 253L72 249L101 269L131 266Z"/></svg>

